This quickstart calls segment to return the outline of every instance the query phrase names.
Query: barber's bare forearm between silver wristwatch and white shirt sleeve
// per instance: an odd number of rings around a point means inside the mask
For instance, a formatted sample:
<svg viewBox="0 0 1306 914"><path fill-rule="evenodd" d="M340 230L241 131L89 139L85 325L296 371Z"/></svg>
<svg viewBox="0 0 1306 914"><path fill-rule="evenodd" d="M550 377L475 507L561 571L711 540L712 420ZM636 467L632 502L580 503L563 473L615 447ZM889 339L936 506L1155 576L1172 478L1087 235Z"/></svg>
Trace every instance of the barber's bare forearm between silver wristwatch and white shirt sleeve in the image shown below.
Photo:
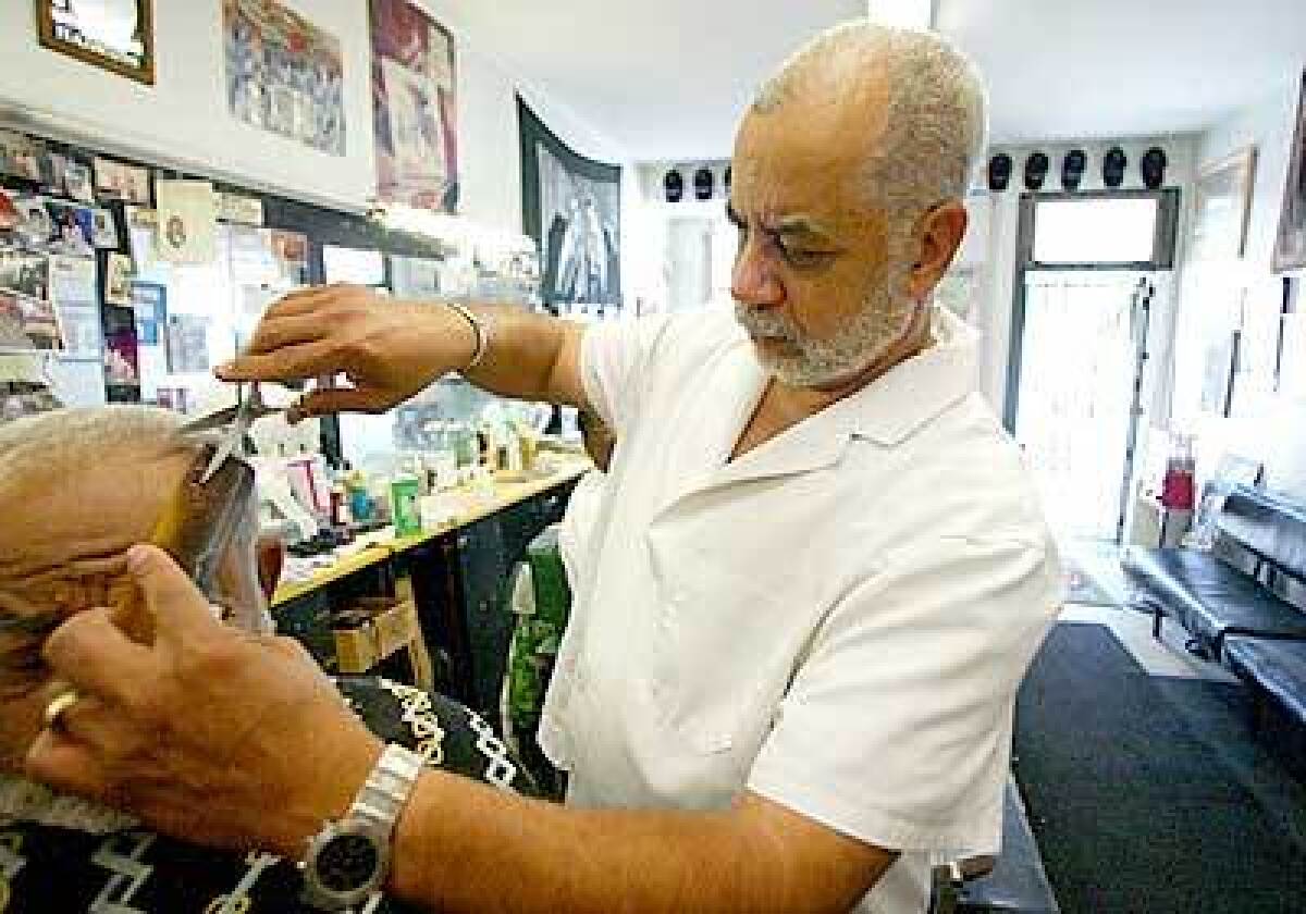
<svg viewBox="0 0 1306 914"><path fill-rule="evenodd" d="M734 810L575 810L430 773L400 819L389 888L449 914L849 910L868 881L833 859L795 866L794 840Z"/></svg>

